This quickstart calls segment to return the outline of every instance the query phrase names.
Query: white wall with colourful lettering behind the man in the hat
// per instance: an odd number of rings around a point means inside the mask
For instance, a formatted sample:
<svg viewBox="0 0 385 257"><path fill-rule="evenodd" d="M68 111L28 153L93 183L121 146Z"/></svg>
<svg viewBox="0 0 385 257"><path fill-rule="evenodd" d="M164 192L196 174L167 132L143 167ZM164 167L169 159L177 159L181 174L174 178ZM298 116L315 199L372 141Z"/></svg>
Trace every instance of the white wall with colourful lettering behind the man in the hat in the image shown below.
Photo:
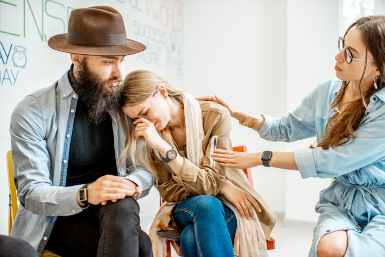
<svg viewBox="0 0 385 257"><path fill-rule="evenodd" d="M183 85L184 0L0 1L0 234L8 234L9 190L5 156L11 148L11 113L25 95L51 85L69 69L69 54L50 49L47 40L67 32L71 10L95 5L117 9L122 14L127 36L147 46L146 51L126 57L123 73L147 69L170 83ZM12 56L17 55L16 46L26 49L24 67L14 66ZM156 190L151 191L150 197L140 200L144 222L152 220L158 201Z"/></svg>

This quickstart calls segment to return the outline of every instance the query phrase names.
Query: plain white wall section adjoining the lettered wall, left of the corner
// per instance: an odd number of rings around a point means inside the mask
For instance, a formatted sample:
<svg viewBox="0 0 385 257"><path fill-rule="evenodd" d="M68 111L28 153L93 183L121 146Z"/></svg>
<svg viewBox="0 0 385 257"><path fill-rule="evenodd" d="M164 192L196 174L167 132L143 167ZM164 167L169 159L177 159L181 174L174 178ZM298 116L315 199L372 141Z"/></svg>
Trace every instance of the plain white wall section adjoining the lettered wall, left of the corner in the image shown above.
<svg viewBox="0 0 385 257"><path fill-rule="evenodd" d="M195 97L218 94L250 112L283 115L284 24L283 0L186 1L185 88ZM232 141L250 152L285 149L282 143L266 144L235 119ZM253 168L255 187L279 212L284 211L284 177L284 171Z"/></svg>

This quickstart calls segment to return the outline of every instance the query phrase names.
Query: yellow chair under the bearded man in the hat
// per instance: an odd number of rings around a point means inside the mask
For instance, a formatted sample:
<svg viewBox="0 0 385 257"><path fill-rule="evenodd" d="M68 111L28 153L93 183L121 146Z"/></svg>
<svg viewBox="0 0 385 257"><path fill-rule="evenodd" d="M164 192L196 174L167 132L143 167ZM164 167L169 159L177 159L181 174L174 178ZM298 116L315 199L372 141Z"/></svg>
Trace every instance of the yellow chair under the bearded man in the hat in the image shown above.
<svg viewBox="0 0 385 257"><path fill-rule="evenodd" d="M8 185L9 185L9 216L8 216L8 234L11 234L11 229L13 222L16 218L17 213L17 195L16 195L16 186L13 179L13 163L11 150L7 152L7 168L8 168ZM60 257L59 255L51 252L50 250L45 249L41 257Z"/></svg>

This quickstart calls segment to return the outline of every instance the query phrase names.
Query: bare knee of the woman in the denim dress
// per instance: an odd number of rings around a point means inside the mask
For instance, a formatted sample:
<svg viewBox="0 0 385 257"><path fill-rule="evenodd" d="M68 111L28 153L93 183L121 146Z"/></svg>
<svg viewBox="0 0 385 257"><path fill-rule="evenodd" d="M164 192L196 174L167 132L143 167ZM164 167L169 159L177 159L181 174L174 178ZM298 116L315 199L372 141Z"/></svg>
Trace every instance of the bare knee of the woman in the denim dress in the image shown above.
<svg viewBox="0 0 385 257"><path fill-rule="evenodd" d="M347 249L346 230L339 230L325 234L318 242L318 257L337 257L344 256Z"/></svg>

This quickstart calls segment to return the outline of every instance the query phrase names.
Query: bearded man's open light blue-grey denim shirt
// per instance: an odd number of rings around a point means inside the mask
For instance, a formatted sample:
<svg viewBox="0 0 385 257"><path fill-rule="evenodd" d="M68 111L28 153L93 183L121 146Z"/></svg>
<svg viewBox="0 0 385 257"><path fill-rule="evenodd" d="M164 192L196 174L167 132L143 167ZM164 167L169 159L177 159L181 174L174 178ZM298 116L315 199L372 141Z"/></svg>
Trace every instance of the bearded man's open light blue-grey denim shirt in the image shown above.
<svg viewBox="0 0 385 257"><path fill-rule="evenodd" d="M11 236L42 252L57 216L82 211L76 197L82 185L66 187L68 157L78 96L67 71L53 85L27 95L11 116L11 149L20 206ZM146 196L152 177L144 169L119 164L127 135L118 112L110 113L115 159L121 177L135 182ZM129 121L129 120L127 120ZM131 126L131 120L128 122Z"/></svg>

